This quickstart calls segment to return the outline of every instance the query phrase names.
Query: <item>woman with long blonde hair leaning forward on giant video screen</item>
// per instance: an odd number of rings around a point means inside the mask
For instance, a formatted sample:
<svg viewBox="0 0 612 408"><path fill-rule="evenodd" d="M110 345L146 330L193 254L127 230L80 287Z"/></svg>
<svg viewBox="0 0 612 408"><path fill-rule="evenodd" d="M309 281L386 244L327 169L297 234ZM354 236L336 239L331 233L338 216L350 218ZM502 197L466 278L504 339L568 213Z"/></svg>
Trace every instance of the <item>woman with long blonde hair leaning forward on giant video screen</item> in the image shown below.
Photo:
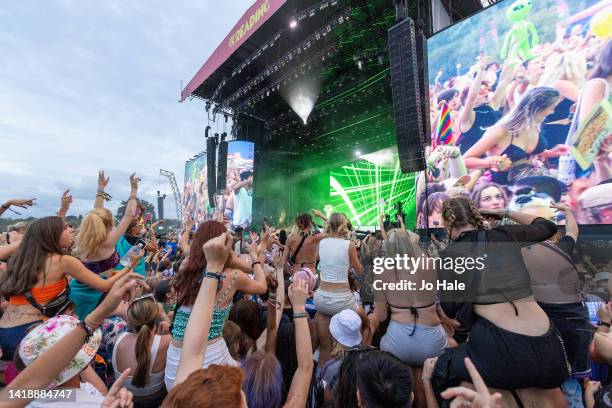
<svg viewBox="0 0 612 408"><path fill-rule="evenodd" d="M527 92L514 109L465 153L467 167L489 169L493 182L508 184L508 169L512 163L534 157L544 160L569 152L564 144L546 149L546 142L540 137L540 127L554 112L559 97L559 91L553 88L534 88Z"/></svg>

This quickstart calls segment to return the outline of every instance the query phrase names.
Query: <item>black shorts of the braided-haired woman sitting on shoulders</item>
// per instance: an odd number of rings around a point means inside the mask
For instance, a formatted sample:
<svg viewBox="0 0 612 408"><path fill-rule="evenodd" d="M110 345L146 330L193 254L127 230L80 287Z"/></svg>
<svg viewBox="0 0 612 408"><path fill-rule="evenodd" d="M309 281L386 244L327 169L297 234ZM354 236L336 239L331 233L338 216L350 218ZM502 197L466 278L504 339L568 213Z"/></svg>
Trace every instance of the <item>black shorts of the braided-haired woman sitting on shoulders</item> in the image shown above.
<svg viewBox="0 0 612 408"><path fill-rule="evenodd" d="M569 377L563 341L552 323L546 334L526 336L477 316L468 342L447 348L438 357L431 381L436 394L462 381L472 381L465 357L472 360L491 388L557 388Z"/></svg>

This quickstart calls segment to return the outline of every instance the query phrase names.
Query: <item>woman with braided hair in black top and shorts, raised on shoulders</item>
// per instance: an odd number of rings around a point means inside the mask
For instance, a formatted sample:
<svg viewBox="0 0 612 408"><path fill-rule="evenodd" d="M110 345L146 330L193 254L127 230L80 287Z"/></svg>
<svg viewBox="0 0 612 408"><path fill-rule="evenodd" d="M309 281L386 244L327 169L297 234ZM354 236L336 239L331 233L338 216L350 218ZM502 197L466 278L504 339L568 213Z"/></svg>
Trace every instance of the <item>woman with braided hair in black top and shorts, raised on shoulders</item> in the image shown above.
<svg viewBox="0 0 612 408"><path fill-rule="evenodd" d="M437 357L432 377L425 382L430 380L439 394L470 381L464 363L470 357L490 387L558 388L569 376L565 349L557 329L533 298L521 256L522 247L550 238L557 227L543 218L506 210L505 216L521 225L486 229L483 214L498 215L498 211L481 212L462 197L444 203L442 218L450 243L440 257L481 258L484 267L465 273L438 267L439 279L466 284L461 293L439 293L444 312L468 330L469 340Z"/></svg>

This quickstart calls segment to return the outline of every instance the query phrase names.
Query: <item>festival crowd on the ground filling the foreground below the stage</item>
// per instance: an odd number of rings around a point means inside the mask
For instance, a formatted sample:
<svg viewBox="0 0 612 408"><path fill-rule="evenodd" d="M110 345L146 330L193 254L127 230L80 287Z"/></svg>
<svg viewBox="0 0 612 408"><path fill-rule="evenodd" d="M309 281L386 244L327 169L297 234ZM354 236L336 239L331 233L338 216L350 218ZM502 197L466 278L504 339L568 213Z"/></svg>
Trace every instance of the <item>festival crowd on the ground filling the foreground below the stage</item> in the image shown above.
<svg viewBox="0 0 612 408"><path fill-rule="evenodd" d="M384 215L357 237L345 215L313 210L237 245L222 218L156 236L139 181L118 222L100 172L77 228L66 192L57 215L0 246L0 406L64 395L41 390L74 392L56 407L605 406L612 307L584 292L569 206L552 204L560 231L483 188L441 204L443 242ZM393 290L447 269L374 272L377 257L476 256L481 242L490 262L470 299ZM38 393L11 398L20 390Z"/></svg>

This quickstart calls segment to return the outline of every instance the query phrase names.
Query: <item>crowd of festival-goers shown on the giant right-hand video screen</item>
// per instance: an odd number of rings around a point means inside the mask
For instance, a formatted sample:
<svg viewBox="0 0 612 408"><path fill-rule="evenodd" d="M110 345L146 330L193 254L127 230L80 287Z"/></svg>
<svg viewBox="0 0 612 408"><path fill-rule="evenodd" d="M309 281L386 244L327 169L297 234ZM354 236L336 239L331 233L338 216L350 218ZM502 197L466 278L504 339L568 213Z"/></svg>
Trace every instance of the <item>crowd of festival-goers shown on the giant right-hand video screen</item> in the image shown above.
<svg viewBox="0 0 612 408"><path fill-rule="evenodd" d="M430 85L420 227L441 227L442 203L458 196L561 224L549 204L564 203L580 223L612 222L612 41L560 21L556 39L531 52L527 61L481 53L467 72L444 81L439 72Z"/></svg>

